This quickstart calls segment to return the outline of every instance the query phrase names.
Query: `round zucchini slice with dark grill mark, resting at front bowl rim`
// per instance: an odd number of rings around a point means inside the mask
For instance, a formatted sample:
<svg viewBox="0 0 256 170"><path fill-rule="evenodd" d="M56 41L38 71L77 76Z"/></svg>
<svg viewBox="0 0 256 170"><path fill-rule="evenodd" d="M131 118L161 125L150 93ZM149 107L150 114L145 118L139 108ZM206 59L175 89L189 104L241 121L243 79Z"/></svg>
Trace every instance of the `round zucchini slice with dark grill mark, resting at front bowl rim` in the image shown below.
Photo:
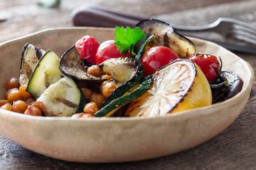
<svg viewBox="0 0 256 170"><path fill-rule="evenodd" d="M42 101L45 116L71 116L83 112L85 97L73 79L64 77L51 84L37 101Z"/></svg>

